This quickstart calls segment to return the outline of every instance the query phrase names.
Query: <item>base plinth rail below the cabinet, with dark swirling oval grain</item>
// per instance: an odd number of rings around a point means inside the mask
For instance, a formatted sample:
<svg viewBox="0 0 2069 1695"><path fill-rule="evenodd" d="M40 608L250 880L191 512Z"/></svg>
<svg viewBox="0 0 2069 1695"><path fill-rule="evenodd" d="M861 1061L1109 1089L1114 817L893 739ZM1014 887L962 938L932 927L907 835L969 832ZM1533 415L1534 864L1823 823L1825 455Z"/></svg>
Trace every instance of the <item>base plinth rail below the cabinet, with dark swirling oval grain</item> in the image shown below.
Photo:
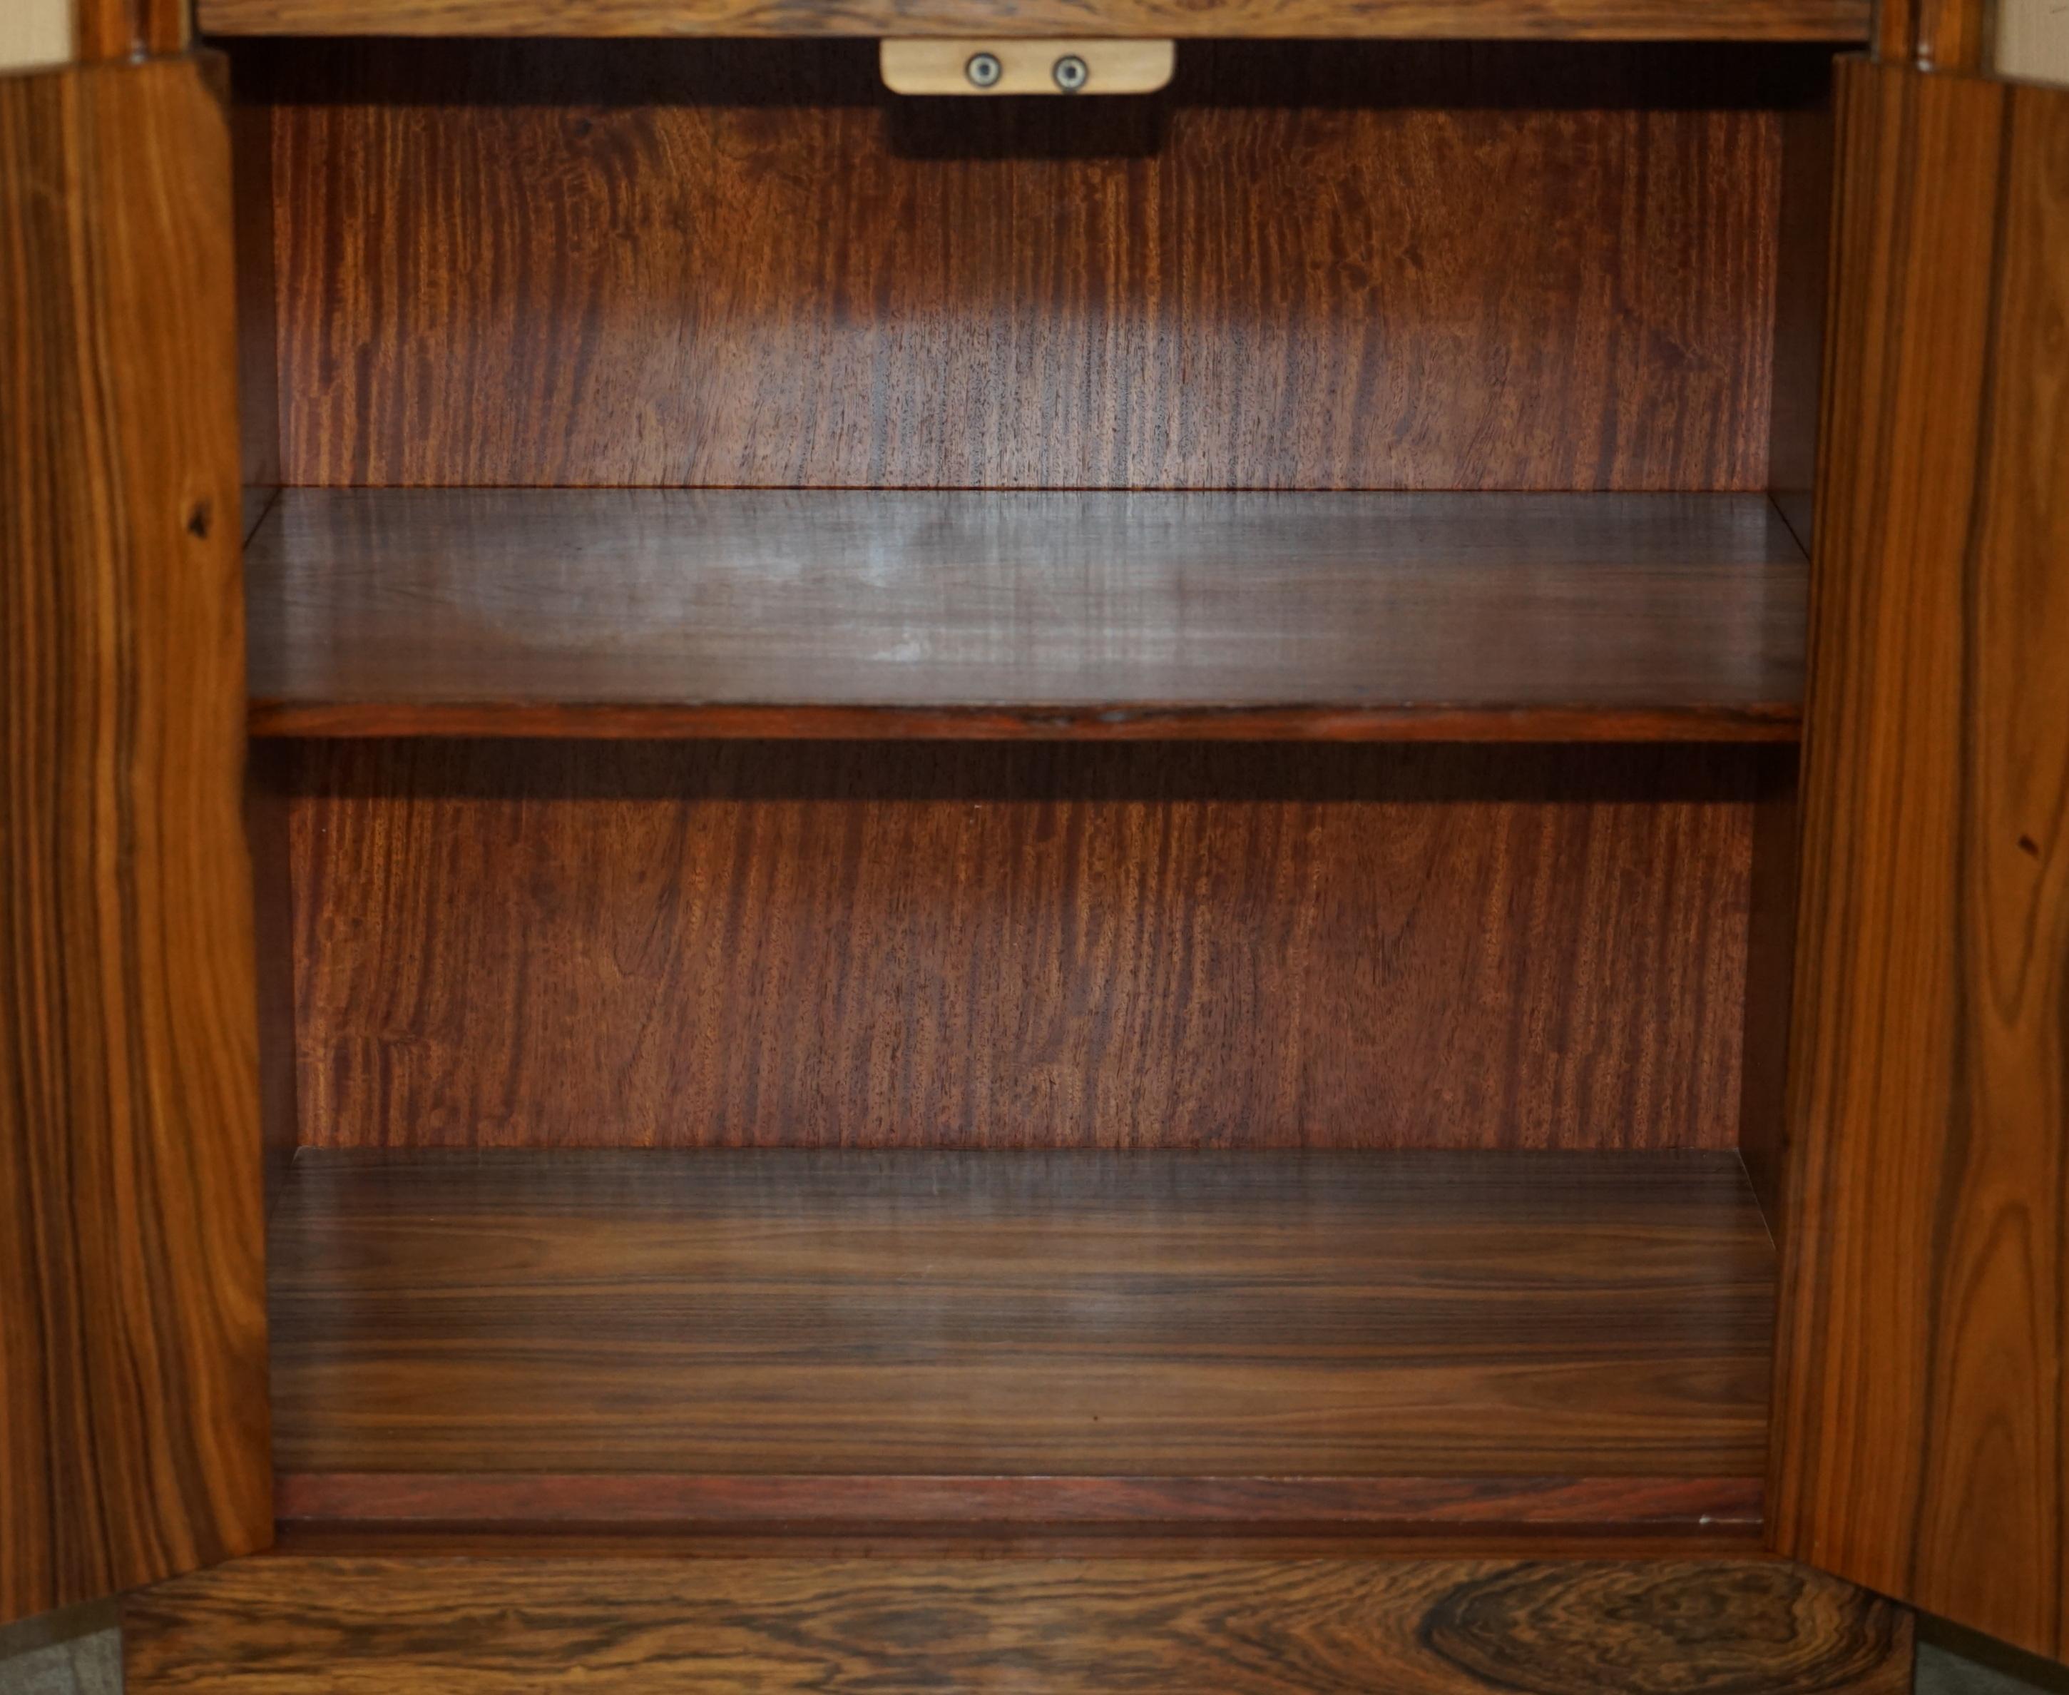
<svg viewBox="0 0 2069 1695"><path fill-rule="evenodd" d="M132 1596L139 1695L1903 1695L1910 1616L1771 1560L257 1558Z"/></svg>

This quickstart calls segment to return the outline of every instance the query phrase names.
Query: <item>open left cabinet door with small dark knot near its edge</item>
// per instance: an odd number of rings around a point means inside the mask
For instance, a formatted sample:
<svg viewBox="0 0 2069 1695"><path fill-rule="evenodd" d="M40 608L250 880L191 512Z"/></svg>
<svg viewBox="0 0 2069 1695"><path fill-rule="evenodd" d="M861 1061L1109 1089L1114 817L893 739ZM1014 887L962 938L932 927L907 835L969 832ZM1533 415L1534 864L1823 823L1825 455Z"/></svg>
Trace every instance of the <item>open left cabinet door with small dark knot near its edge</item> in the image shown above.
<svg viewBox="0 0 2069 1695"><path fill-rule="evenodd" d="M232 284L205 60L0 75L0 1623L271 1538Z"/></svg>

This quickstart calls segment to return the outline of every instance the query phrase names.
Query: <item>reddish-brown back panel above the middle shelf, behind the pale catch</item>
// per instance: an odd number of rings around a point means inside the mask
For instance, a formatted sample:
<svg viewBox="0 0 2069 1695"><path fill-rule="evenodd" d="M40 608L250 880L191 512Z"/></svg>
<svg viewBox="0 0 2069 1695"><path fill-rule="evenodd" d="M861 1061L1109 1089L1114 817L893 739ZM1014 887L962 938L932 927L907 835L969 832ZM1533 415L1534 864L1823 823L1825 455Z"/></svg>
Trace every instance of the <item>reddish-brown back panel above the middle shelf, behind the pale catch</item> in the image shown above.
<svg viewBox="0 0 2069 1695"><path fill-rule="evenodd" d="M1761 493L1825 58L898 101L867 41L252 43L286 480Z"/></svg>

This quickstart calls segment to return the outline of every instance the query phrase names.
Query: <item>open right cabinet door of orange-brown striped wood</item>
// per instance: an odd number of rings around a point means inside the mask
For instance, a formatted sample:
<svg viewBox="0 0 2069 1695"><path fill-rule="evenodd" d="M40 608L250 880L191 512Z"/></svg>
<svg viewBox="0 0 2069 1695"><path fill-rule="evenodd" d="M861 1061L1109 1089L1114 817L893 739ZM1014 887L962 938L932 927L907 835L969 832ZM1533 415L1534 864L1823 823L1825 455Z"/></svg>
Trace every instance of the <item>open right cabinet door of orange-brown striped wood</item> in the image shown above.
<svg viewBox="0 0 2069 1695"><path fill-rule="evenodd" d="M1781 1546L2069 1652L2069 93L1848 64Z"/></svg>

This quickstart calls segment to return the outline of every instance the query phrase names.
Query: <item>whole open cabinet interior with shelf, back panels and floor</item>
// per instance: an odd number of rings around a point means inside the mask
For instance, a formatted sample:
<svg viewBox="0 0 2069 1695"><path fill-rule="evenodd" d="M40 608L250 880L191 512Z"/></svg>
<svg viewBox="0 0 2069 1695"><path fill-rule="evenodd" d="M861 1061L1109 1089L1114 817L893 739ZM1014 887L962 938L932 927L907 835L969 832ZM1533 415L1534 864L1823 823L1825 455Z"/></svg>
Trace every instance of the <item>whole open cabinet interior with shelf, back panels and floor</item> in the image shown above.
<svg viewBox="0 0 2069 1695"><path fill-rule="evenodd" d="M1755 1542L1827 60L236 43L290 1519Z"/></svg>

